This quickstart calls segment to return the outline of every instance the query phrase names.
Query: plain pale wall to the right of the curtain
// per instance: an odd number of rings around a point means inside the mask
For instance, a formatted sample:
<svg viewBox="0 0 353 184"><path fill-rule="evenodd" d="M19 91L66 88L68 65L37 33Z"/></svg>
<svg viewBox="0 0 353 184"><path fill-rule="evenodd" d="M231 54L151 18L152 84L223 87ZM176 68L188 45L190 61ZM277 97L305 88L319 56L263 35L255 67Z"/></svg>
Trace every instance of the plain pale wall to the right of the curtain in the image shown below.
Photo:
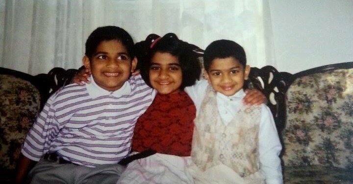
<svg viewBox="0 0 353 184"><path fill-rule="evenodd" d="M278 71L353 61L353 0L269 0Z"/></svg>

